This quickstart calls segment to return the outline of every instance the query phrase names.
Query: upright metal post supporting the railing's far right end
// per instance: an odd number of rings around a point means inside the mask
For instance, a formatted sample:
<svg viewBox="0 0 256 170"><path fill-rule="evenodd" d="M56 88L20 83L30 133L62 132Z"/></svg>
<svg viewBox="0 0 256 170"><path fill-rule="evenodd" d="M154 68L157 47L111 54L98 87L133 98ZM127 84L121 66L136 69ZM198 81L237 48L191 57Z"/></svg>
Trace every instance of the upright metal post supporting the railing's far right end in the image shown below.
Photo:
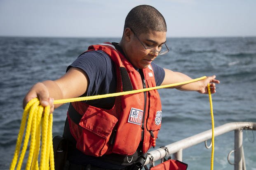
<svg viewBox="0 0 256 170"><path fill-rule="evenodd" d="M243 131L242 129L235 130L235 146L234 146L234 170L242 170L243 160L242 160L242 146L243 146Z"/></svg>

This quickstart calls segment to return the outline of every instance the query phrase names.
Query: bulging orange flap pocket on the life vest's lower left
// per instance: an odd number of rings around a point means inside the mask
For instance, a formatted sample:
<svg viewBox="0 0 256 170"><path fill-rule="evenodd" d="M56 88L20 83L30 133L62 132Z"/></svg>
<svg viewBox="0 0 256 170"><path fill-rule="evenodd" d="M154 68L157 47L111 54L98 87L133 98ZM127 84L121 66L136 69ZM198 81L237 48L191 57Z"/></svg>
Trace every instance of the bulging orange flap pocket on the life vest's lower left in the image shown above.
<svg viewBox="0 0 256 170"><path fill-rule="evenodd" d="M79 123L82 135L76 147L87 155L102 156L108 150L108 141L116 122L115 116L101 108L89 106Z"/></svg>

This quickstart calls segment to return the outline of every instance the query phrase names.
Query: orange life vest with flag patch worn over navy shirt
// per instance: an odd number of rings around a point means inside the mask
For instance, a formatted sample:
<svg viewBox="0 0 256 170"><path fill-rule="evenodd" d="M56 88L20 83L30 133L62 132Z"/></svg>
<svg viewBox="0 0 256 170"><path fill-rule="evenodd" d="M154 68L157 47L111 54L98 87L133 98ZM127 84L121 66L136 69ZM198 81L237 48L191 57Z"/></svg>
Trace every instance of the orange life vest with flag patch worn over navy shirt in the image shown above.
<svg viewBox="0 0 256 170"><path fill-rule="evenodd" d="M155 87L151 65L143 70L145 80L132 64L110 43L89 46L88 51L102 50L115 62L117 92ZM144 87L143 83L144 82ZM128 85L127 85L128 84ZM79 125L72 115L82 117ZM77 114L76 113L76 114ZM77 141L76 147L87 155L132 155L143 140L146 153L161 127L162 108L157 90L115 97L113 108L106 110L73 102L68 110L70 132Z"/></svg>

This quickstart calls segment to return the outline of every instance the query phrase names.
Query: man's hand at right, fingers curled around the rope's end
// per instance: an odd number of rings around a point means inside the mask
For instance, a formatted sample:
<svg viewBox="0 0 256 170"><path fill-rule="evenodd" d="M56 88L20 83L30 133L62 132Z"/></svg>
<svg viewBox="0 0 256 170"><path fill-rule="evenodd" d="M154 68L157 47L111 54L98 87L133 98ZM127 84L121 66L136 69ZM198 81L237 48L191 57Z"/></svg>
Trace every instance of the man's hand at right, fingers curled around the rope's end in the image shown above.
<svg viewBox="0 0 256 170"><path fill-rule="evenodd" d="M200 88L200 90L198 90L199 93L202 94L208 94L208 87L207 85L210 83L210 89L211 89L211 94L214 94L216 92L216 84L219 84L220 81L215 79L216 76L209 76L203 80L200 80L202 83L202 87Z"/></svg>

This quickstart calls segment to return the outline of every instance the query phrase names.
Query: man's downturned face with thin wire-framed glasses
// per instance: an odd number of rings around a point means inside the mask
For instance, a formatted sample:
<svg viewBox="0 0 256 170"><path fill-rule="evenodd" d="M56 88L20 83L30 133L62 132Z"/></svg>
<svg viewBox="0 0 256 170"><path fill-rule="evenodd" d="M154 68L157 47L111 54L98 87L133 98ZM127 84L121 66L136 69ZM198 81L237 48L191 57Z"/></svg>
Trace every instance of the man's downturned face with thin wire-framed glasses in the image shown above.
<svg viewBox="0 0 256 170"><path fill-rule="evenodd" d="M126 41L123 50L127 59L134 67L138 69L146 68L153 60L155 60L158 53L148 54L142 44L144 44L146 48L152 48L160 51L161 47L164 46L164 43L166 42L166 32L150 30L148 33L140 35L135 34L127 28L126 32L124 32Z"/></svg>

